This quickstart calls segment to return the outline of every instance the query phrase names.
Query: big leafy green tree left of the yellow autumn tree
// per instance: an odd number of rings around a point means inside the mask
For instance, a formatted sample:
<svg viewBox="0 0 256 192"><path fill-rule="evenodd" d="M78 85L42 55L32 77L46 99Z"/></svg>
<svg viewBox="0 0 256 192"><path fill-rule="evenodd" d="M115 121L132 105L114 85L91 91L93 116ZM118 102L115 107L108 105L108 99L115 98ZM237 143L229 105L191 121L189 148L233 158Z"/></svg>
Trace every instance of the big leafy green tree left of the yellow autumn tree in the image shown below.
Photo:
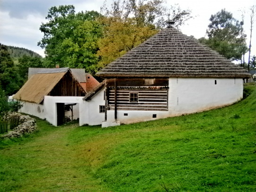
<svg viewBox="0 0 256 192"><path fill-rule="evenodd" d="M97 41L102 29L96 11L75 14L73 5L51 7L47 23L40 26L44 33L38 46L45 48L47 67L87 67L97 62Z"/></svg>

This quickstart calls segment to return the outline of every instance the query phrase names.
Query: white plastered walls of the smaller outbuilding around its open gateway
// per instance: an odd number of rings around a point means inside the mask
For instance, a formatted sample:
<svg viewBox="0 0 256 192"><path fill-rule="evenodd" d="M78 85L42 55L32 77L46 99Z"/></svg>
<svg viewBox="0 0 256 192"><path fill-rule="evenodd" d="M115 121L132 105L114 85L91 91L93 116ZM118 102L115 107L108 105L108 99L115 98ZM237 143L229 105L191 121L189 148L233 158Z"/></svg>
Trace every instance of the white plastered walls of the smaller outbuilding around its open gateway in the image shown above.
<svg viewBox="0 0 256 192"><path fill-rule="evenodd" d="M84 97L44 96L43 104L24 102L20 112L46 119L57 126L57 103L77 103L73 106L74 119L79 118L79 125L101 125L105 113L100 113L99 106L105 105L104 89L97 92L91 100L85 101ZM66 113L68 115L68 113Z"/></svg>

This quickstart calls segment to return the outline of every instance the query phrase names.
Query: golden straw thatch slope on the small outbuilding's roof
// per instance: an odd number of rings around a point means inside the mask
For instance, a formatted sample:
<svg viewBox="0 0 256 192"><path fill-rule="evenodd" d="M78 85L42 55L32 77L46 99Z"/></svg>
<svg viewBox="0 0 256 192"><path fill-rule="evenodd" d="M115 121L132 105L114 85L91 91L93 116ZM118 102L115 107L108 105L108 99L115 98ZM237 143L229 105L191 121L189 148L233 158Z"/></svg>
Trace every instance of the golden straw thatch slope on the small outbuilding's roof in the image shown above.
<svg viewBox="0 0 256 192"><path fill-rule="evenodd" d="M39 104L66 73L32 75L13 98Z"/></svg>

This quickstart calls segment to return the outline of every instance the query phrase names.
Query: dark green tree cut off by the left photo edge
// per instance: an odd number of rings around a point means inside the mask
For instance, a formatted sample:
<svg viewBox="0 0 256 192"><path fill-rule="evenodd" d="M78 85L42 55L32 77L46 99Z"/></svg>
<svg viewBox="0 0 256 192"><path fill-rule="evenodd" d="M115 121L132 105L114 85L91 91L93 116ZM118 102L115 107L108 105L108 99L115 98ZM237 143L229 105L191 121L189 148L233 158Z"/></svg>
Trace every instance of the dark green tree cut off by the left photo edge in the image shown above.
<svg viewBox="0 0 256 192"><path fill-rule="evenodd" d="M10 53L5 45L0 43L0 85L7 95L17 92L22 84L22 80L17 73Z"/></svg>

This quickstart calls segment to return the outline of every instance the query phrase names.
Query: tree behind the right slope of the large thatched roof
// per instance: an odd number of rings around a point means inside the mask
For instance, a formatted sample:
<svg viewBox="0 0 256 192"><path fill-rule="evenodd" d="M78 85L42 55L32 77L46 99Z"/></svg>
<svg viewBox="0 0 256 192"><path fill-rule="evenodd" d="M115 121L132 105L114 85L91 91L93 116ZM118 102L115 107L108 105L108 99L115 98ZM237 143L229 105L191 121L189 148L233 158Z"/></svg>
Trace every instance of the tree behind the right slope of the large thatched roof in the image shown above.
<svg viewBox="0 0 256 192"><path fill-rule="evenodd" d="M241 30L243 22L239 23L232 13L222 9L210 17L206 34L208 39L200 38L199 42L219 52L223 57L230 60L240 60L247 49L245 35Z"/></svg>

